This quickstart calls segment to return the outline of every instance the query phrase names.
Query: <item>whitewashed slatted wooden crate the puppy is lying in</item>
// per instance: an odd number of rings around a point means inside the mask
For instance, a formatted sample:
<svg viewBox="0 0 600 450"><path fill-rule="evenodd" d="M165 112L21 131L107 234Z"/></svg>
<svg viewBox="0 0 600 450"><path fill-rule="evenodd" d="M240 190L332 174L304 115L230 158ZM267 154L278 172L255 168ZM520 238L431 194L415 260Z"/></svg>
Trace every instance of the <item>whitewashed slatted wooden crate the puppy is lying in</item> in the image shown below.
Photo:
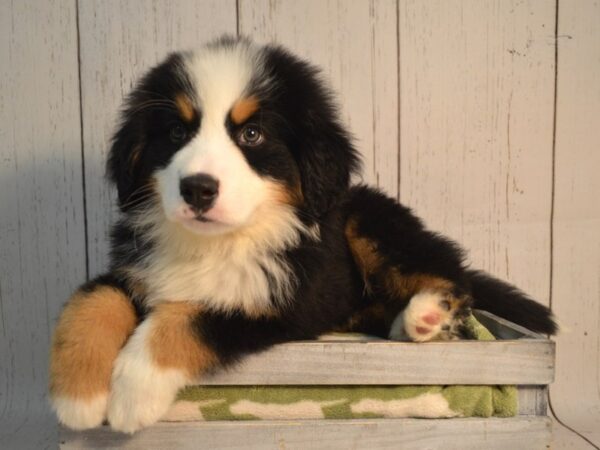
<svg viewBox="0 0 600 450"><path fill-rule="evenodd" d="M60 448L132 449L542 449L551 441L547 385L554 343L485 312L498 341L294 342L253 355L212 385L516 384L512 418L269 420L159 423L134 436L101 427L61 430Z"/></svg>

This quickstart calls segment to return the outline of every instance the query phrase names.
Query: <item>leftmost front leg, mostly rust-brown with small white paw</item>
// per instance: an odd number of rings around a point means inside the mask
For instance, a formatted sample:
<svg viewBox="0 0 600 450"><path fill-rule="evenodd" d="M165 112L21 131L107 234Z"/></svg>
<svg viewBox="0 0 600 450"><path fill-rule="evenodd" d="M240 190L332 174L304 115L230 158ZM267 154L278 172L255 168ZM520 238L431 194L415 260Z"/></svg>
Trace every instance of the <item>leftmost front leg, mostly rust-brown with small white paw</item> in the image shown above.
<svg viewBox="0 0 600 450"><path fill-rule="evenodd" d="M136 322L130 299L107 280L84 285L68 301L50 355L50 401L61 423L102 423L114 361Z"/></svg>

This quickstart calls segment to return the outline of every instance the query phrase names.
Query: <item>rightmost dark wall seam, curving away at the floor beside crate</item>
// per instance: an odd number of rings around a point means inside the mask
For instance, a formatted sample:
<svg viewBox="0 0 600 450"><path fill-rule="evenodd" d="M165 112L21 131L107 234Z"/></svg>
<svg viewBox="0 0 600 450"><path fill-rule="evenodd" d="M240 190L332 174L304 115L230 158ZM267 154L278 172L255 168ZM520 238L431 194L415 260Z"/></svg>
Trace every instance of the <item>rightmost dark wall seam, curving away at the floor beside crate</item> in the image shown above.
<svg viewBox="0 0 600 450"><path fill-rule="evenodd" d="M553 299L553 284L554 284L554 203L555 203L555 191L556 191L556 118L557 118L557 105L558 105L558 6L559 1L556 0L555 8L554 8L554 111L552 118L552 186L551 186L551 194L550 194L550 289L549 289L549 307L552 309L552 299ZM581 439L586 441L595 449L600 449L596 444L594 444L591 440L581 434L579 431L567 425L563 422L557 415L554 405L552 404L552 392L548 389L548 407L550 412L556 419L556 421L565 427L567 430L573 432L575 435L579 436Z"/></svg>

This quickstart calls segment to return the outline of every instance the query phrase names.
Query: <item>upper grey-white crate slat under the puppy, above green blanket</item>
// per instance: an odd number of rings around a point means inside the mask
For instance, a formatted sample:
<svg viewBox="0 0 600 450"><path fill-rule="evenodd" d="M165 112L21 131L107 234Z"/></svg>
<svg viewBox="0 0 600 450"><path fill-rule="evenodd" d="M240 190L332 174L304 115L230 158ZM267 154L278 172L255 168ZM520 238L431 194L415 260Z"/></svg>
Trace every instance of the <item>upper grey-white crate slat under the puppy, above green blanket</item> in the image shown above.
<svg viewBox="0 0 600 450"><path fill-rule="evenodd" d="M554 343L541 339L424 344L309 341L246 357L200 384L537 384L554 378Z"/></svg>

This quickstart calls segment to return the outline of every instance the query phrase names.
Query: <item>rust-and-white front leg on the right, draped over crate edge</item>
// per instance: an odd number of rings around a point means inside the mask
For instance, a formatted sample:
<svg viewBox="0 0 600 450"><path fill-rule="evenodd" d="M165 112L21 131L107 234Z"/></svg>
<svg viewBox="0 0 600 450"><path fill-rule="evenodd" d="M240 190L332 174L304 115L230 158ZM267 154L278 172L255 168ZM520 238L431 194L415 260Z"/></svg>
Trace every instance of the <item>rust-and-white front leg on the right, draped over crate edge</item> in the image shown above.
<svg viewBox="0 0 600 450"><path fill-rule="evenodd" d="M197 305L156 306L119 353L112 374L108 420L126 433L151 425L177 391L215 365L217 356L195 330Z"/></svg>

